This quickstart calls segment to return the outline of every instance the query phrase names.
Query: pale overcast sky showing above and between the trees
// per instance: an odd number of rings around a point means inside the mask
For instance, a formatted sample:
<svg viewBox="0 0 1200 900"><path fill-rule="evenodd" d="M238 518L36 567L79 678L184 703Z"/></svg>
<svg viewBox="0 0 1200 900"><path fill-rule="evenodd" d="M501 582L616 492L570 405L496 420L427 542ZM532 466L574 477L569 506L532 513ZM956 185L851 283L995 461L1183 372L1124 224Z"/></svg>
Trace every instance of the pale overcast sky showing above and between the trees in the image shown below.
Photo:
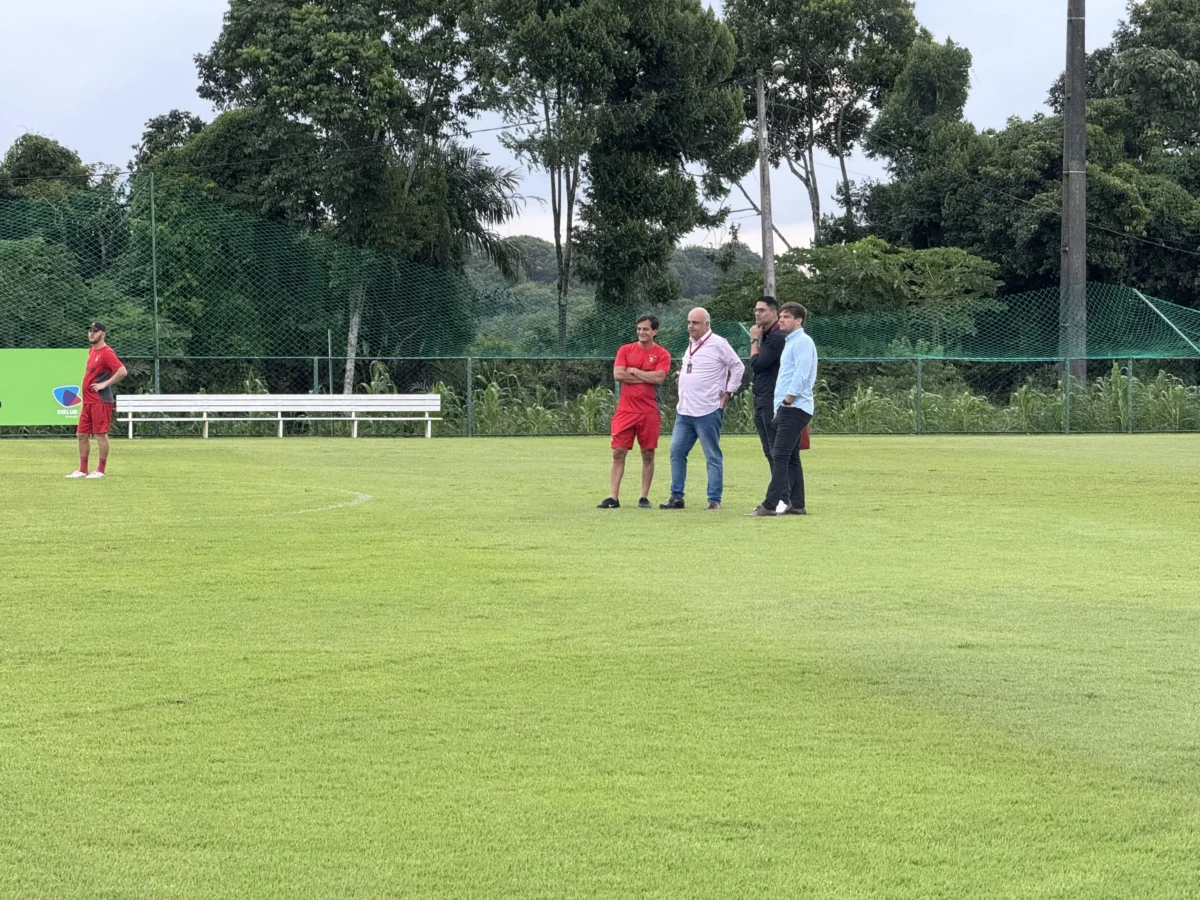
<svg viewBox="0 0 1200 900"><path fill-rule="evenodd" d="M1126 0L1087 4L1090 50L1109 42L1126 5ZM124 168L151 116L180 108L211 118L212 109L196 95L192 58L216 40L227 0L41 0L6 6L0 151L20 134L37 132L76 150L84 162ZM1046 90L1063 68L1067 0L917 0L917 17L938 40L953 37L971 49L967 116L979 127L1000 128L1012 115L1030 116L1045 108ZM494 133L479 134L475 143L491 151L493 161L515 164ZM878 175L877 167L864 160L851 168L859 175ZM821 173L828 210L836 172L822 168ZM806 242L811 226L803 188L786 170L775 172L772 181L776 224L793 244ZM756 176L746 181L746 190L757 194ZM530 200L509 233L548 239L550 215L536 202L547 193L544 176L528 176L523 193ZM731 205L739 209L745 203L734 192ZM733 220L743 239L757 248L757 217L740 212ZM691 242L720 244L727 234L727 229L697 233Z"/></svg>

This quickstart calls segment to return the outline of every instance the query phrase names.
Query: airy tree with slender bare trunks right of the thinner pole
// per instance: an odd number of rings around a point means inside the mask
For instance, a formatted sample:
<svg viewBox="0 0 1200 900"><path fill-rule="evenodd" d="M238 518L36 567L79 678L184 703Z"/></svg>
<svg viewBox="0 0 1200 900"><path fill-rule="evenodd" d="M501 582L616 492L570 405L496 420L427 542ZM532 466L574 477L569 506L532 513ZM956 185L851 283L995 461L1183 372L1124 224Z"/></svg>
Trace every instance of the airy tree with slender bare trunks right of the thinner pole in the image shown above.
<svg viewBox="0 0 1200 900"><path fill-rule="evenodd" d="M726 22L738 40L745 114L757 121L756 72L785 72L767 103L773 166L785 163L809 196L822 238L816 152L841 167L847 221L853 197L846 157L863 139L917 36L911 0L728 0Z"/></svg>

